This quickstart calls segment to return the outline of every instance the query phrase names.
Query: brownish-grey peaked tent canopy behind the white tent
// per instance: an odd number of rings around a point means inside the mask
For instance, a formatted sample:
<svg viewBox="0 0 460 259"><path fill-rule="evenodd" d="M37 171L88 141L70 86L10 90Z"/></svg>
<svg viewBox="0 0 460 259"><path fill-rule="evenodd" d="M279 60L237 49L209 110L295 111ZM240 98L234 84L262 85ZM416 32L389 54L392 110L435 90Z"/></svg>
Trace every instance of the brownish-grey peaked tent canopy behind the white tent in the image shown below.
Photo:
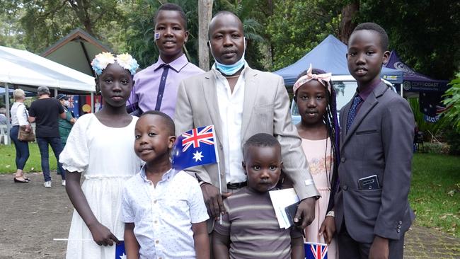
<svg viewBox="0 0 460 259"><path fill-rule="evenodd" d="M91 60L100 52L112 52L84 30L77 28L45 50L41 56L66 67L94 76Z"/></svg>

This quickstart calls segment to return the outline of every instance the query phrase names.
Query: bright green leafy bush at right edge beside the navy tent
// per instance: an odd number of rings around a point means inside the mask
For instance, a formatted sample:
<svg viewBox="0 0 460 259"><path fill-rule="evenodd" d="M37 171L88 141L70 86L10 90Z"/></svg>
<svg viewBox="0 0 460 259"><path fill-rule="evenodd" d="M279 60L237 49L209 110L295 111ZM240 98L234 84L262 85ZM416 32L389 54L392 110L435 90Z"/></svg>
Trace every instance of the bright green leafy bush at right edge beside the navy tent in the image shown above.
<svg viewBox="0 0 460 259"><path fill-rule="evenodd" d="M447 106L444 115L452 121L452 126L460 132L460 73L456 74L456 78L449 85L451 88L444 93L446 97L443 101Z"/></svg>

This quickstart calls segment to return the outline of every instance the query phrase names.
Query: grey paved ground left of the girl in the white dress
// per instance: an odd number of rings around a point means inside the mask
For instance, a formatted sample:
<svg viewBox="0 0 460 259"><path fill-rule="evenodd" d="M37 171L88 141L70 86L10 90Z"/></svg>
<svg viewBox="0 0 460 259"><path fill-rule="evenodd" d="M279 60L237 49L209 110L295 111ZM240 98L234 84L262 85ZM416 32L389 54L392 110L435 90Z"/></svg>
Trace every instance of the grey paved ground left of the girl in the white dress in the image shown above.
<svg viewBox="0 0 460 259"><path fill-rule="evenodd" d="M73 207L52 173L52 188L43 187L41 173L29 173L30 183L13 183L0 175L0 258L64 258Z"/></svg>

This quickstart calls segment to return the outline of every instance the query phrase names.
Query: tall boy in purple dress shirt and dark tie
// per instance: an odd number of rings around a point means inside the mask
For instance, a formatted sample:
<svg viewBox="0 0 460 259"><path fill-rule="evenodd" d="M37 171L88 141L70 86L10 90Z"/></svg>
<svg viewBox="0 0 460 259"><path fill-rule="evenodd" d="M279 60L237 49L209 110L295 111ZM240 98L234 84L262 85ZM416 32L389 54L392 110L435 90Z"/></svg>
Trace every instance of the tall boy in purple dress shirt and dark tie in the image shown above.
<svg viewBox="0 0 460 259"><path fill-rule="evenodd" d="M188 62L183 53L182 47L188 39L183 9L176 4L163 4L154 21L160 56L155 64L134 76L127 110L137 116L147 110L160 110L173 118L180 81L204 71Z"/></svg>

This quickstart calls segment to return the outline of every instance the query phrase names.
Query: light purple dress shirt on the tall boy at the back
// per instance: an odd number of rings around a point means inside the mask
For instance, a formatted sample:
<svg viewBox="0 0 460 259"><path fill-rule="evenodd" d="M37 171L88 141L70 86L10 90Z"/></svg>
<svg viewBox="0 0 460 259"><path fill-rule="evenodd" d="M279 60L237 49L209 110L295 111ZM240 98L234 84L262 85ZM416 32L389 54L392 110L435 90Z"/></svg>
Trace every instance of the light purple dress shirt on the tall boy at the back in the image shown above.
<svg viewBox="0 0 460 259"><path fill-rule="evenodd" d="M161 57L159 57L155 64L134 75L134 86L126 105L137 103L143 112L155 110L161 74L163 74L163 69L159 67L164 63ZM176 108L176 98L180 81L190 76L201 74L204 71L188 62L185 54L169 63L169 66L171 68L166 77L160 110L174 119L174 109Z"/></svg>

